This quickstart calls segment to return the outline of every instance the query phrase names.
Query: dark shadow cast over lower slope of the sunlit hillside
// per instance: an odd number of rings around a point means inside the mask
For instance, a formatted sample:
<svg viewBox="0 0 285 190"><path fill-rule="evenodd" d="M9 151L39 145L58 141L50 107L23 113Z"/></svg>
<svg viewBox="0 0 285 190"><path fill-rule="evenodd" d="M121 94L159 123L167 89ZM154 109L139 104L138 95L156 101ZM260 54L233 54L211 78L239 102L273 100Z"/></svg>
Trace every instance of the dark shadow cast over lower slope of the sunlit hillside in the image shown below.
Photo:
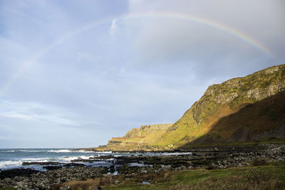
<svg viewBox="0 0 285 190"><path fill-rule="evenodd" d="M178 149L274 137L285 137L285 92L244 105L234 114L219 119L207 134Z"/></svg>

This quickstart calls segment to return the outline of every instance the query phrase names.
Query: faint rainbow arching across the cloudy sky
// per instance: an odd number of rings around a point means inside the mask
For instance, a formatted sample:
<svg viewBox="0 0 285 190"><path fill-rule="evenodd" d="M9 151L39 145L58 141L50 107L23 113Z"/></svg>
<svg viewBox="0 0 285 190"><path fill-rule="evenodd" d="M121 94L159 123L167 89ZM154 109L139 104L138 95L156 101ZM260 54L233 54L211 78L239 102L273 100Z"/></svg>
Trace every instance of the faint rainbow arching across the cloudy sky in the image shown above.
<svg viewBox="0 0 285 190"><path fill-rule="evenodd" d="M192 23L199 23L204 26L216 28L217 30L223 31L224 33L228 33L229 35L232 35L244 41L245 43L248 43L250 46L257 48L259 51L265 53L267 56L273 56L273 53L269 50L269 48L267 48L266 46L264 46L264 44L255 40L251 36L248 36L246 33L243 33L242 31L239 31L230 26L227 26L224 23L219 23L217 21L202 18L199 16L194 16L190 14L172 13L172 12L149 12L149 13L142 13L142 14L126 14L123 16L119 16L118 18L115 18L115 19L120 20L120 19L143 19L143 18L179 19L182 21L190 21ZM53 43L51 43L50 45L43 48L41 51L38 51L38 53L36 53L35 56L24 61L24 63L21 64L21 66L16 70L16 72L13 75L11 75L11 78L9 78L9 80L7 80L6 83L4 83L4 85L1 86L0 95L3 95L6 92L6 90L9 89L9 87L14 83L14 81L17 78L19 78L21 73L23 73L23 71L26 68L28 68L30 65L35 63L35 61L38 58L41 58L41 56L48 53L48 51L50 51L52 48L54 48L60 43L63 43L68 38L72 38L73 36L76 36L79 33L82 33L83 31L87 31L90 28L100 26L103 23L112 23L113 19L114 18L108 18L108 19L102 19L100 21L87 23L80 28L76 28L73 31L69 31L65 35L61 36L61 38L58 38L56 41L53 41Z"/></svg>

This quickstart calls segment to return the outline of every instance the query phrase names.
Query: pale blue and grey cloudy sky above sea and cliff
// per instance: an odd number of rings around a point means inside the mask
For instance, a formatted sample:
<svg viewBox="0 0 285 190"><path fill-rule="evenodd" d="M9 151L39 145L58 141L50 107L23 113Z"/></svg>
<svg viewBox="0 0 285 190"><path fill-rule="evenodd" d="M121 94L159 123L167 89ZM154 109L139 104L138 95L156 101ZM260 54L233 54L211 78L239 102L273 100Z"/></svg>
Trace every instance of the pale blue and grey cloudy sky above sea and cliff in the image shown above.
<svg viewBox="0 0 285 190"><path fill-rule="evenodd" d="M96 147L285 63L284 0L0 0L0 148Z"/></svg>

